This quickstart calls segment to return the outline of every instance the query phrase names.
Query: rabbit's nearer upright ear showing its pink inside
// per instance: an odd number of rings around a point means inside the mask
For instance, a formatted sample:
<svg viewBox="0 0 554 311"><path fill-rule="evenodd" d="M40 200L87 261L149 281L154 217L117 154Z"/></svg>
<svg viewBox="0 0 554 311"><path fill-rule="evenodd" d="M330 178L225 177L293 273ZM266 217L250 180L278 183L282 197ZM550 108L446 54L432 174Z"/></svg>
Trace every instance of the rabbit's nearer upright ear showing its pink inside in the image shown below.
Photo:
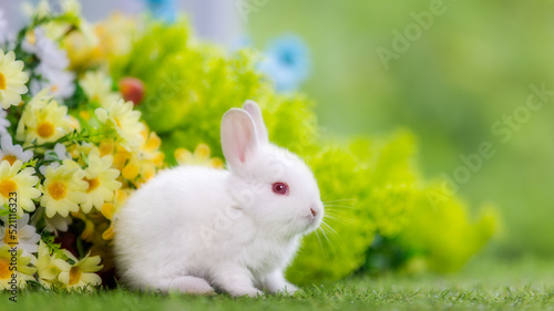
<svg viewBox="0 0 554 311"><path fill-rule="evenodd" d="M230 166L244 164L258 146L258 134L252 116L244 110L232 108L223 115L222 148Z"/></svg>

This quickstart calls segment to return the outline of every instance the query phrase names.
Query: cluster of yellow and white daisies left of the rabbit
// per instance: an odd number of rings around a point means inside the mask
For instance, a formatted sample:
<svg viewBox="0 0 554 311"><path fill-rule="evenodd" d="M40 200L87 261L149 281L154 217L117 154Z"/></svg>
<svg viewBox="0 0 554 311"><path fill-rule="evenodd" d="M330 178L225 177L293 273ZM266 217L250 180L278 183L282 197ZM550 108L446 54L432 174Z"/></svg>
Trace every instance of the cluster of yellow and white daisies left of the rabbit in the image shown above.
<svg viewBox="0 0 554 311"><path fill-rule="evenodd" d="M89 291L113 267L113 215L164 154L105 63L72 66L82 55L64 44L107 60L98 45L105 25L93 29L72 8L52 14L45 2L30 17L0 50L1 288Z"/></svg>

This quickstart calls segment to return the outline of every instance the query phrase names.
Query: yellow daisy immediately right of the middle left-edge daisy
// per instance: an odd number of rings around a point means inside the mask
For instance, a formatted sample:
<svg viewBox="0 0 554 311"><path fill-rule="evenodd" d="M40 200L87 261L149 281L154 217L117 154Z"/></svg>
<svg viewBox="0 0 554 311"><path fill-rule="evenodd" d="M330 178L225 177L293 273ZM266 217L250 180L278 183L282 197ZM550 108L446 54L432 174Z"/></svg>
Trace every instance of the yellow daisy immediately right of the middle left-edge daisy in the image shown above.
<svg viewBox="0 0 554 311"><path fill-rule="evenodd" d="M65 159L58 168L47 167L44 174L41 206L47 209L47 217L57 212L66 217L70 211L78 211L79 204L86 200L89 184L83 180L84 172L72 160Z"/></svg>

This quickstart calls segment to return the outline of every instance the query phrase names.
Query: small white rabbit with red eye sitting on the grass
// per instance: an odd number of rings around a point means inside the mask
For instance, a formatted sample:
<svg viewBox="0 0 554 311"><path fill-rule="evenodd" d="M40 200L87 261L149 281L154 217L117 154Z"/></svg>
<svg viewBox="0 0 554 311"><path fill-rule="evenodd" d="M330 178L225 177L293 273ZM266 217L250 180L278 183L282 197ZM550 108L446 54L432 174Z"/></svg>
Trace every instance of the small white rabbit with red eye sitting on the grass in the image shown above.
<svg viewBox="0 0 554 311"><path fill-rule="evenodd" d="M143 185L116 215L119 273L134 289L232 296L293 293L284 269L324 205L311 170L268 142L255 102L223 116L228 170L179 166Z"/></svg>

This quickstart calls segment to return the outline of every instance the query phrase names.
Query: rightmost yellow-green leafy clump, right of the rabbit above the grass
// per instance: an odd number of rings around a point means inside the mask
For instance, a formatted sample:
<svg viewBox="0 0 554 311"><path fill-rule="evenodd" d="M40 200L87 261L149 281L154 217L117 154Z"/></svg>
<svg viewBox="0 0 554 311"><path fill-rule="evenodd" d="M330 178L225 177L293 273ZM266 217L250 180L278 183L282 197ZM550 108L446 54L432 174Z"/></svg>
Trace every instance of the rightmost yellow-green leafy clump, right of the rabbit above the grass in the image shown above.
<svg viewBox="0 0 554 311"><path fill-rule="evenodd" d="M443 201L430 200L431 186L414 197L414 206L407 217L410 221L400 234L399 243L419 256L414 269L429 268L437 272L452 272L478 252L493 236L497 227L497 211L492 206L483 206L480 217L471 219L468 207L458 198ZM411 265L408 265L410 268Z"/></svg>

